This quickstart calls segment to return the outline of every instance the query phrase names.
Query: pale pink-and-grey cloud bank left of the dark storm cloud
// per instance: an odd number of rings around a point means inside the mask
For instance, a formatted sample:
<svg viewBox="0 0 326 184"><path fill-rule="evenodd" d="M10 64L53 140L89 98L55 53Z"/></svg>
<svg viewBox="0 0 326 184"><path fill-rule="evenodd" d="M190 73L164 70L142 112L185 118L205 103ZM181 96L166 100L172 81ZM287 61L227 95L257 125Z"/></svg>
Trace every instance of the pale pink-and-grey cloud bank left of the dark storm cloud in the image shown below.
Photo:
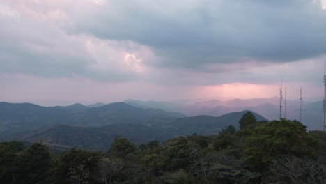
<svg viewBox="0 0 326 184"><path fill-rule="evenodd" d="M6 15L0 16L0 73L89 77L114 82L137 77L135 72L117 64L121 63L118 59L123 60L118 52L133 52L130 48L124 49L127 44L69 35L61 26L68 21L56 20L61 18L58 17L61 12L55 7L53 10L49 6L46 8L49 10L43 12L42 8L37 7L41 9L37 11L23 4L24 8L16 10L15 6L19 8L19 5L17 1L17 5L0 6L1 15Z"/></svg>

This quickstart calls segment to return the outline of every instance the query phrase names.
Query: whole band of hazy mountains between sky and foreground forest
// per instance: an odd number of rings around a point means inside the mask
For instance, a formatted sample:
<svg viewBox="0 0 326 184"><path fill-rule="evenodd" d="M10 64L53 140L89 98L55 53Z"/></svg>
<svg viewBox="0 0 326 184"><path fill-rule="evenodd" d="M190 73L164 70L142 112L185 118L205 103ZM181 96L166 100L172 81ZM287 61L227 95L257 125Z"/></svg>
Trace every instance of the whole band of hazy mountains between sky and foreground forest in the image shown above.
<svg viewBox="0 0 326 184"><path fill-rule="evenodd" d="M288 100L286 116L299 120L299 100ZM321 130L322 102L305 102L302 121ZM136 144L181 135L211 135L228 125L238 128L247 111L258 121L279 119L279 98L249 100L125 100L105 105L42 107L0 102L0 140L40 141L59 148L104 150L116 136ZM284 116L284 114L283 114Z"/></svg>

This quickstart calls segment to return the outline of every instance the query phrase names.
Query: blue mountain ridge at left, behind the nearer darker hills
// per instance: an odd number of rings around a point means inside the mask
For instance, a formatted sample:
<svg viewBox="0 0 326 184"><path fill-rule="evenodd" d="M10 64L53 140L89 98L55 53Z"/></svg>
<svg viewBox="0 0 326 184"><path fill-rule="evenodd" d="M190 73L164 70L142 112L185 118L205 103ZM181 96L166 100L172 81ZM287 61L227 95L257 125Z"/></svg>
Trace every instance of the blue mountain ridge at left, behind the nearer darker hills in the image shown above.
<svg viewBox="0 0 326 184"><path fill-rule="evenodd" d="M53 125L104 126L170 122L185 115L159 109L143 109L116 102L102 107L83 105L42 107L30 103L0 102L0 132L24 132ZM1 135L1 133L0 133ZM1 139L1 136L0 136Z"/></svg>

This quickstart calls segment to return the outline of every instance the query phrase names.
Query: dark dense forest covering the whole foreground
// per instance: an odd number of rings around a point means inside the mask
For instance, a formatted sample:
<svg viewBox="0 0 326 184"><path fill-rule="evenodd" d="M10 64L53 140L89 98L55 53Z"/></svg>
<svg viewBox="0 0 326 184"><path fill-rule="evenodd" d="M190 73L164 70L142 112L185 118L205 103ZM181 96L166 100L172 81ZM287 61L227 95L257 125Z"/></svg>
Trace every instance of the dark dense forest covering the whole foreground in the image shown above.
<svg viewBox="0 0 326 184"><path fill-rule="evenodd" d="M325 132L251 112L239 123L138 148L116 137L107 152L1 142L0 183L326 183Z"/></svg>

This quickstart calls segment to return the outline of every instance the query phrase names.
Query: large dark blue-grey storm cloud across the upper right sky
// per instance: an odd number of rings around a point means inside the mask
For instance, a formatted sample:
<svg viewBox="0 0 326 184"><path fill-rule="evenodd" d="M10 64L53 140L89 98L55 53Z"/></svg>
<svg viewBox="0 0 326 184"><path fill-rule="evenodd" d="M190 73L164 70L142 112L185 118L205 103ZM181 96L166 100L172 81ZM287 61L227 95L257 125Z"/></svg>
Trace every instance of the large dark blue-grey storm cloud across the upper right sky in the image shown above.
<svg viewBox="0 0 326 184"><path fill-rule="evenodd" d="M326 11L318 1L109 1L73 31L132 40L167 67L288 62L326 54ZM148 65L153 64L148 62Z"/></svg>

